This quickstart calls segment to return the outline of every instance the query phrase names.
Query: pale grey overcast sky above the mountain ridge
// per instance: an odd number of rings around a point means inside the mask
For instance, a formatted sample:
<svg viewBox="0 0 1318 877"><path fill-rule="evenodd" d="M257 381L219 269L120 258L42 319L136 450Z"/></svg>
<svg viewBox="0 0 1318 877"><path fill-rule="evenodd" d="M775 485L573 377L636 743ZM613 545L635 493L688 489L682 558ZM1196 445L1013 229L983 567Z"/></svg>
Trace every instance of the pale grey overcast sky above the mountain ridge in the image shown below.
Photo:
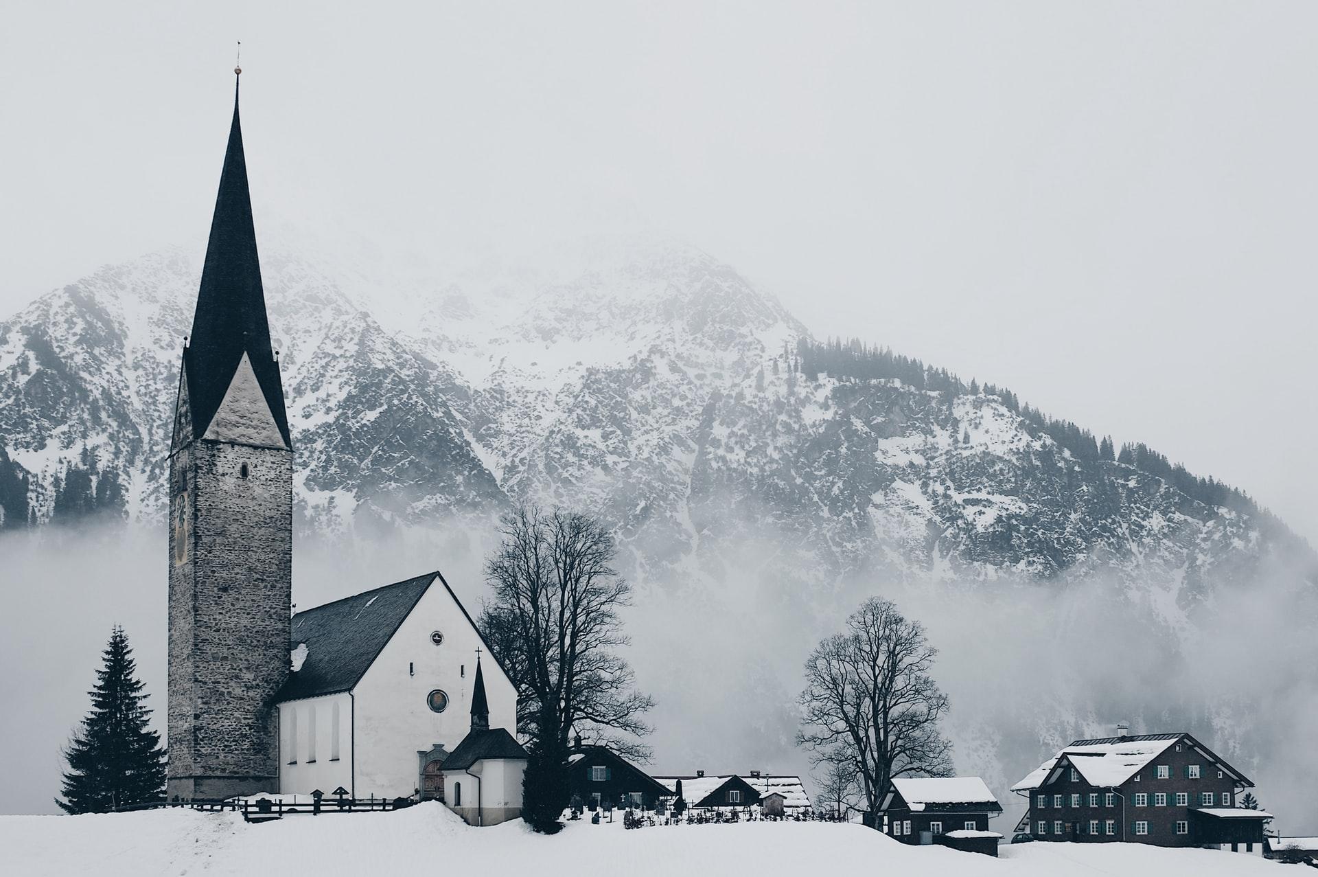
<svg viewBox="0 0 1318 877"><path fill-rule="evenodd" d="M243 40L258 210L647 223L1318 542L1318 4L127 7L7 4L0 315L204 240Z"/></svg>

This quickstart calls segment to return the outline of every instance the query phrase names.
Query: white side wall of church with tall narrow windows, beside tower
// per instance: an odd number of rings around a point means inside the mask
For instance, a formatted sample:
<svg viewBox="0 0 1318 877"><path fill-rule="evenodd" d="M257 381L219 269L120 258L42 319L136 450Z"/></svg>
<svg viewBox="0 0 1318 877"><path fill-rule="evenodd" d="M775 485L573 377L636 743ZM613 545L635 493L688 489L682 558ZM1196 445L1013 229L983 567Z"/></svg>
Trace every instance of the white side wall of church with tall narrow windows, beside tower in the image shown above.
<svg viewBox="0 0 1318 877"><path fill-rule="evenodd" d="M328 694L279 704L279 791L352 791L352 698Z"/></svg>

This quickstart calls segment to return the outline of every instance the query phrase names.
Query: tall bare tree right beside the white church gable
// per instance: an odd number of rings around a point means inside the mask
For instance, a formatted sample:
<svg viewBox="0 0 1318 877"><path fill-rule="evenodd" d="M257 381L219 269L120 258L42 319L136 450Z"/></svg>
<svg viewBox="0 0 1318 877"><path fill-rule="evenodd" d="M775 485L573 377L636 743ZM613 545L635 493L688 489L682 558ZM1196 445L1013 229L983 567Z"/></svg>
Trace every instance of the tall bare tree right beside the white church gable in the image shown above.
<svg viewBox="0 0 1318 877"><path fill-rule="evenodd" d="M503 518L502 534L485 564L494 593L480 626L518 690L527 778L540 786L527 803L543 804L531 822L552 830L568 802L569 735L645 757L635 737L648 733L642 716L654 702L635 691L631 667L616 651L627 644L618 609L631 591L612 566L614 543L604 525L577 512L521 506Z"/></svg>

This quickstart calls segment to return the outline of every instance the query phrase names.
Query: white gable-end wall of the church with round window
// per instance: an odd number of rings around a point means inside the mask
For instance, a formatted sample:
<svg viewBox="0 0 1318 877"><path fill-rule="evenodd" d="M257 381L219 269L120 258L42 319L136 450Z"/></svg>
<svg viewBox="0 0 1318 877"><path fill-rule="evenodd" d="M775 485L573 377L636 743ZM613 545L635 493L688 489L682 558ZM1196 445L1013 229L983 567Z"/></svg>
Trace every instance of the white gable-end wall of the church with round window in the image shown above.
<svg viewBox="0 0 1318 877"><path fill-rule="evenodd" d="M438 646L431 642L435 630L443 634ZM358 798L413 794L419 782L416 753L435 744L452 750L467 736L477 646L484 655L490 727L515 732L513 683L485 651L476 628L443 582L436 580L353 690ZM427 706L427 696L436 688L448 695L443 712Z"/></svg>

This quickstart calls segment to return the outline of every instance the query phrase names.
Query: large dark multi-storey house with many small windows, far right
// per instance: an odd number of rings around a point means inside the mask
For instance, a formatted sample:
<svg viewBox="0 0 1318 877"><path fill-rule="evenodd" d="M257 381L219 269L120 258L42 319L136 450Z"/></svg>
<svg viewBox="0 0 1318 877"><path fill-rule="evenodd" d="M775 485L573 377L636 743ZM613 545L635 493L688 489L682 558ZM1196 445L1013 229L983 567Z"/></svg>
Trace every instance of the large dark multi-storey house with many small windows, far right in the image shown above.
<svg viewBox="0 0 1318 877"><path fill-rule="evenodd" d="M1037 840L1255 852L1269 815L1236 807L1248 777L1185 732L1077 740L1012 791Z"/></svg>

